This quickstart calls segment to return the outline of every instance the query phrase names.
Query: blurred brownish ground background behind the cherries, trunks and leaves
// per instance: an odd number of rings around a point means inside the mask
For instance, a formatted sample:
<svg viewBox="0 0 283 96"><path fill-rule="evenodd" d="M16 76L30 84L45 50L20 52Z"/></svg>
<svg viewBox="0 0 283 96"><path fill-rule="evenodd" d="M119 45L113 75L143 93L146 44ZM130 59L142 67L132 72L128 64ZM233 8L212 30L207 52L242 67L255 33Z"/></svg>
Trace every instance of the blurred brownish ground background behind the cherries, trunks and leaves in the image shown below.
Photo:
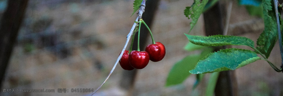
<svg viewBox="0 0 283 96"><path fill-rule="evenodd" d="M134 0L29 0L14 50L1 88L54 89L54 93L0 93L0 95L89 95L70 92L71 88L93 88L106 79L126 36L136 19L132 17ZM160 0L151 24L156 42L166 47L159 62L149 61L137 71L132 95L203 95L208 76L192 91L195 75L181 85L165 87L171 67L189 54L183 47L188 43L184 33L190 28L183 10L193 1ZM282 2L279 2L282 3ZM222 1L223 7L228 2ZM0 0L0 16L7 0ZM137 13L137 12L136 12ZM233 2L228 34L245 36L256 42L264 29L261 18L250 16L245 6ZM203 15L190 35L205 35ZM149 35L148 35L149 36ZM145 45L151 44L148 38ZM129 48L130 44L128 45ZM245 46L235 48L251 49ZM127 48L127 49L128 49ZM143 51L143 50L142 50ZM269 60L280 66L278 41ZM127 71L125 71L127 72ZM121 87L123 69L118 64L108 81L95 95L123 96L128 90ZM256 61L235 70L241 96L279 95L283 90L282 73L275 72L265 61ZM66 88L67 93L58 93Z"/></svg>

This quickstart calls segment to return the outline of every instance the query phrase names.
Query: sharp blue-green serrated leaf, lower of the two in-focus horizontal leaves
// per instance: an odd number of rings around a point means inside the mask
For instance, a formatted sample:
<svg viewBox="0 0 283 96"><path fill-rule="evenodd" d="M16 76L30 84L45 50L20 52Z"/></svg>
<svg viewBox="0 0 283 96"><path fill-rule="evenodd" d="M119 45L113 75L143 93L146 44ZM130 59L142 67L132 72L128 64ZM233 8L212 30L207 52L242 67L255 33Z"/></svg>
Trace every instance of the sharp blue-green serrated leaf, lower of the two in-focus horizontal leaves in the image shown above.
<svg viewBox="0 0 283 96"><path fill-rule="evenodd" d="M235 70L256 60L260 60L256 52L245 49L225 49L207 55L201 59L193 70L192 74L202 74Z"/></svg>

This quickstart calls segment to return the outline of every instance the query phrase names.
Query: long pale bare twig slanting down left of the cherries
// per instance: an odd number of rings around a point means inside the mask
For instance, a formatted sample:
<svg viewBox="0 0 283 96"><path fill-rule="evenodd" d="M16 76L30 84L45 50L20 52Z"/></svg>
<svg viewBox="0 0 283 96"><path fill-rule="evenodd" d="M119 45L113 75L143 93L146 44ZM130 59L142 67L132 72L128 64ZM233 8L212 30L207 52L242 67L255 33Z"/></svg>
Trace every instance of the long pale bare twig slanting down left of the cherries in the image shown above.
<svg viewBox="0 0 283 96"><path fill-rule="evenodd" d="M138 15L138 17L137 17L137 19L136 19L136 22L138 22L138 20L141 19L142 14L143 14L143 12L144 12L144 9L145 9L145 0L143 0L143 1L141 2L141 6L140 6L140 10L139 10L139 15ZM126 44L125 44L125 46L124 46L124 48L123 48L121 54L120 54L119 57L117 58L117 61L116 61L115 65L114 65L114 67L112 68L112 70L110 71L110 73L108 74L108 76L106 77L105 81L97 88L97 90L100 89L101 86L107 81L107 79L110 77L110 75L111 75L112 72L114 71L114 69L115 69L116 65L118 64L119 60L122 58L122 55L123 55L123 53L124 53L124 51L125 51L125 49L126 49L128 43L129 43L129 41L130 41L130 38L131 38L131 36L132 36L132 34L133 34L133 31L134 31L134 29L136 28L136 25L137 25L137 23L134 23L134 24L133 24L130 33L127 35ZM97 92L97 90L95 90L95 92ZM91 94L91 96L92 96L95 92L93 92L93 93Z"/></svg>

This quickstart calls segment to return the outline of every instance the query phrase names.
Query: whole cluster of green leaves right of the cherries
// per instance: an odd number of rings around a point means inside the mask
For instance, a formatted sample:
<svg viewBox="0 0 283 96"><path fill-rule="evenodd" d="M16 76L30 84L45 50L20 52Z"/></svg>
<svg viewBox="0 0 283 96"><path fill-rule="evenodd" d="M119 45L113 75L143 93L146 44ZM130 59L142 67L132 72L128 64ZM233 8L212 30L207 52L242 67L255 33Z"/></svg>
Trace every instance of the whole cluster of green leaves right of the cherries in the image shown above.
<svg viewBox="0 0 283 96"><path fill-rule="evenodd" d="M218 0L194 0L194 3L191 6L185 8L185 16L188 17L188 19L192 19L190 22L191 28L189 33L196 25L200 14L213 6L217 1ZM197 49L207 48L208 46L245 45L251 47L254 49L254 51L230 48L213 53L208 52L209 54L206 53L206 55L195 54L186 56L182 60L175 63L175 65L172 67L167 78L166 86L181 84L191 74L197 74L197 80L193 87L195 88L201 81L204 73L216 72L211 76L212 83L209 84L209 86L213 86L215 83L213 80L215 80L215 76L218 77L218 72L220 71L235 70L257 60L261 60L262 58L258 57L257 54L260 54L261 56L264 54L264 59L262 60L267 60L278 39L276 13L274 10L273 1L238 0L238 4L246 6L246 10L248 13L250 13L250 15L262 17L264 20L265 29L259 36L256 42L256 47L254 45L254 41L241 36L192 36L185 34L191 43L188 43L184 49L187 51L194 51ZM281 19L280 26L283 28ZM276 67L270 61L267 60L267 62L274 69L276 69ZM276 71L280 72L282 69L277 69ZM207 92L209 92L209 90L207 90Z"/></svg>

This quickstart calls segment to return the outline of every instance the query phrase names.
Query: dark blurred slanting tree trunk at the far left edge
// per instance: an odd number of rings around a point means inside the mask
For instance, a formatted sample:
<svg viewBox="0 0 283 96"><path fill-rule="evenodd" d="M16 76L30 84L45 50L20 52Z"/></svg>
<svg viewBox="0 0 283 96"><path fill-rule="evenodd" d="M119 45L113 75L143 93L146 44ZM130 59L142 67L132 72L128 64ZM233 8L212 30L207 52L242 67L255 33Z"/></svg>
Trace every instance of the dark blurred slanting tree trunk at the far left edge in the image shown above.
<svg viewBox="0 0 283 96"><path fill-rule="evenodd" d="M0 87L15 44L18 31L25 15L28 0L8 0L0 26ZM2 92L2 88L0 89Z"/></svg>

